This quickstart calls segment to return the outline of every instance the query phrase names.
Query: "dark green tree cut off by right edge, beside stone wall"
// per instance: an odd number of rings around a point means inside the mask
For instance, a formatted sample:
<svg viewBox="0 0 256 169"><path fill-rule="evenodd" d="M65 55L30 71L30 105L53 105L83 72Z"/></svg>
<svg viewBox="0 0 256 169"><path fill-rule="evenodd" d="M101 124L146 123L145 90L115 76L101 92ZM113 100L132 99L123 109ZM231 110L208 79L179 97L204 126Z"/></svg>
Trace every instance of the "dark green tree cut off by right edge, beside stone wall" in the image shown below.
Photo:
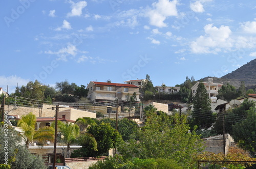
<svg viewBox="0 0 256 169"><path fill-rule="evenodd" d="M234 141L251 155L256 157L256 108L250 107L247 111L247 118L232 126L232 137Z"/></svg>

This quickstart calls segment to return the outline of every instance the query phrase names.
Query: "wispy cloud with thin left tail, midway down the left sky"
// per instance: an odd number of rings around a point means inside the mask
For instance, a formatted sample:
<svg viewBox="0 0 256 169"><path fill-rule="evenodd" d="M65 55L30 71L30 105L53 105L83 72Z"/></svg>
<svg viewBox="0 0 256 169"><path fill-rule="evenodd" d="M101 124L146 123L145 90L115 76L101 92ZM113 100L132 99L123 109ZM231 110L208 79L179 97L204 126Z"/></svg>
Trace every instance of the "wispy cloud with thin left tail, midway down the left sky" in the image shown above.
<svg viewBox="0 0 256 169"><path fill-rule="evenodd" d="M77 48L75 45L68 44L67 47L63 47L58 51L45 51L46 54L55 54L59 57L59 60L67 61L67 56L72 55L73 57L77 54Z"/></svg>

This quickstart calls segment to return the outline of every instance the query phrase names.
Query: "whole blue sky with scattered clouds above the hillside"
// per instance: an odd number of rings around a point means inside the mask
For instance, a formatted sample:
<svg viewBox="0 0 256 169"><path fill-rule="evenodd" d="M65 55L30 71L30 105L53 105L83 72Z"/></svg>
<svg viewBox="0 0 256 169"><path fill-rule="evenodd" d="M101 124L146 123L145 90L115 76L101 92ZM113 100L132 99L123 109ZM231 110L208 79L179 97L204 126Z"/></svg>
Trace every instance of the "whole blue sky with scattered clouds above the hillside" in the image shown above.
<svg viewBox="0 0 256 169"><path fill-rule="evenodd" d="M0 87L143 79L175 86L256 58L254 1L1 1Z"/></svg>

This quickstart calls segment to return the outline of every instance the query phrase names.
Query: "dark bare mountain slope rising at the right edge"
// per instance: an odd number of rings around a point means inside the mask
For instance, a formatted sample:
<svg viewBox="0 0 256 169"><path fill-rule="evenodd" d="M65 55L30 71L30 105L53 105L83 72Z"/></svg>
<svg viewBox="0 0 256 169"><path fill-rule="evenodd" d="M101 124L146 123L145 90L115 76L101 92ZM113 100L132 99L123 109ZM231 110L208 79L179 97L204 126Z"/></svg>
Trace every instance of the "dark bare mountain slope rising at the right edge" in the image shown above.
<svg viewBox="0 0 256 169"><path fill-rule="evenodd" d="M239 88L241 81L244 81L247 89L255 89L256 88L256 59L241 66L237 70L234 70L231 73L228 73L222 76L221 78L205 77L200 79L199 81L207 82L208 78L213 78L214 83L223 83L224 85L229 83L230 85L236 88Z"/></svg>

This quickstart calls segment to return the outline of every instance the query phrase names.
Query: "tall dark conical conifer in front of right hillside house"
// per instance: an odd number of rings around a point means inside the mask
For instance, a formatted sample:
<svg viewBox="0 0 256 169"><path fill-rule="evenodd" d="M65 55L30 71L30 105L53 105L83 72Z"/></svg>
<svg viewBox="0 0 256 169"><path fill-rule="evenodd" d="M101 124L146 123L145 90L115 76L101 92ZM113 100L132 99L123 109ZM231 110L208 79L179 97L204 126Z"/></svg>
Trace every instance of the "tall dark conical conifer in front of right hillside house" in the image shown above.
<svg viewBox="0 0 256 169"><path fill-rule="evenodd" d="M215 118L212 115L209 95L202 82L198 84L193 103L192 125L197 125L200 128L210 127L215 122Z"/></svg>

